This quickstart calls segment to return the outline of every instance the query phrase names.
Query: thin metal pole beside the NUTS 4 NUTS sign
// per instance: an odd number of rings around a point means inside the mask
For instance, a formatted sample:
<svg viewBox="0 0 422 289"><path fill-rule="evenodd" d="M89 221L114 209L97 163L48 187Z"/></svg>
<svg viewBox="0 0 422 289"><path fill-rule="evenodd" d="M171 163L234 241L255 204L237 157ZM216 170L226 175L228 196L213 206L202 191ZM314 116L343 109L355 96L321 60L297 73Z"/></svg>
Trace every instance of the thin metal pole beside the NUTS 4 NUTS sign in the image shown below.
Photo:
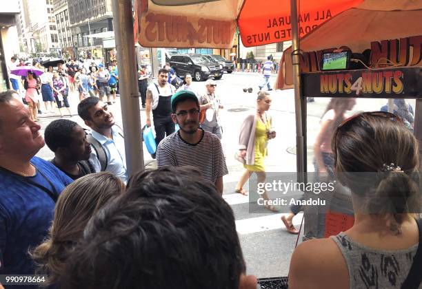
<svg viewBox="0 0 422 289"><path fill-rule="evenodd" d="M290 17L292 24L292 64L294 85L294 111L296 116L296 167L298 182L305 181L306 139L303 136L303 100L301 98L301 70L299 65L299 32L297 23L297 0L290 0Z"/></svg>

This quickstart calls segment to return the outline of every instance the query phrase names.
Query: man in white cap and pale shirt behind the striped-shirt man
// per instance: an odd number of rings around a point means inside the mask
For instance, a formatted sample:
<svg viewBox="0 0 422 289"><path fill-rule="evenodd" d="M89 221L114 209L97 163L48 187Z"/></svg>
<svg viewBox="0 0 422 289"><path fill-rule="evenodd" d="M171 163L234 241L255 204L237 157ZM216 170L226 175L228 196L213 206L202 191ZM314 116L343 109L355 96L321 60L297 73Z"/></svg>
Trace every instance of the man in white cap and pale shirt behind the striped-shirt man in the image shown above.
<svg viewBox="0 0 422 289"><path fill-rule="evenodd" d="M205 131L214 133L221 140L223 130L221 129L221 125L219 125L219 109L222 109L223 105L221 105L220 98L215 94L217 83L212 79L208 79L205 82L205 86L207 90L199 99L201 110L206 109L205 119L201 123L201 127Z"/></svg>

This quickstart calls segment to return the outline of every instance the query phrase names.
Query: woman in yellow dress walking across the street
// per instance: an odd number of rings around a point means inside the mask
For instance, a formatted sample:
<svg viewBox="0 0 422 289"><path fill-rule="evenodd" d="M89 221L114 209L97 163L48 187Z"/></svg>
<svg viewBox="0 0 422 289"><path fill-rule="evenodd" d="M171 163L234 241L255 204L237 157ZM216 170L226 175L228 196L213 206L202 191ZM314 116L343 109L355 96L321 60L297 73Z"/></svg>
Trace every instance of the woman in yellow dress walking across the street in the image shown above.
<svg viewBox="0 0 422 289"><path fill-rule="evenodd" d="M245 172L237 183L236 192L243 195L248 193L243 189L243 185L248 181L252 173L257 174L257 182L265 183L264 159L267 156L267 142L275 138L276 133L272 131L272 119L267 112L271 106L271 97L268 92L259 92L257 98L257 113L245 118L241 126L239 136L239 156L245 160L243 167ZM264 200L269 200L264 191L261 196ZM265 205L270 211L277 211L274 206Z"/></svg>

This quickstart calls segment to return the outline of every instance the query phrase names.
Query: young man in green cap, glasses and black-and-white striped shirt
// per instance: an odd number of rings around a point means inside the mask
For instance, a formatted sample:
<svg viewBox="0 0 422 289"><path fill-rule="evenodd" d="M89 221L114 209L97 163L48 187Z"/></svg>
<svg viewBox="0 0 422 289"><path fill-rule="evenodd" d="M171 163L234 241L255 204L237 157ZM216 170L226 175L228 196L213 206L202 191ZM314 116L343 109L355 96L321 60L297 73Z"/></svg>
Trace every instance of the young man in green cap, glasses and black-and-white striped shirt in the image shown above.
<svg viewBox="0 0 422 289"><path fill-rule="evenodd" d="M223 175L228 174L219 138L199 127L199 100L188 90L172 96L172 120L179 131L164 138L157 147L158 167L197 167L205 180L223 194Z"/></svg>

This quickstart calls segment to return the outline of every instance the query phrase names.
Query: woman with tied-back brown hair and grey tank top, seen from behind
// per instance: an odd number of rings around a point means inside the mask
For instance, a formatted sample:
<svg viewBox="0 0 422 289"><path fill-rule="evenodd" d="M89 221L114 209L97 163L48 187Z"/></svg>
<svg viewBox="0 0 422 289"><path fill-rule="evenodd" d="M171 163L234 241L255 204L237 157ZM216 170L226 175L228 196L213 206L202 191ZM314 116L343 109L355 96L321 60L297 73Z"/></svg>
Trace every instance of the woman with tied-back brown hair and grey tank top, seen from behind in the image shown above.
<svg viewBox="0 0 422 289"><path fill-rule="evenodd" d="M365 112L336 129L332 152L352 191L354 225L299 245L289 288L422 288L416 138L394 114Z"/></svg>

